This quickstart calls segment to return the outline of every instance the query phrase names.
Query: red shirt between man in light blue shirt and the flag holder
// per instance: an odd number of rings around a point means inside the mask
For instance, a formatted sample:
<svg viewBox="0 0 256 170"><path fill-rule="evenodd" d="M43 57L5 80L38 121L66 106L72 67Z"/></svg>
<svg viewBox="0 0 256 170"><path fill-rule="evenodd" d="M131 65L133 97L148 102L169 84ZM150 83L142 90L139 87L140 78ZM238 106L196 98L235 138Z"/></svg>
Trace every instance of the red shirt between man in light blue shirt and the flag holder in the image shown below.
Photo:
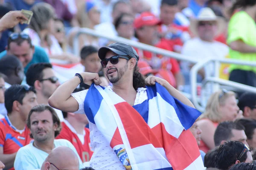
<svg viewBox="0 0 256 170"><path fill-rule="evenodd" d="M93 151L90 149L90 130L84 127L84 144L82 144L76 132L71 130L65 122L61 122L61 126L61 133L56 137L56 139L67 139L76 148L76 151L79 154L82 162L90 161L90 158L93 155Z"/></svg>

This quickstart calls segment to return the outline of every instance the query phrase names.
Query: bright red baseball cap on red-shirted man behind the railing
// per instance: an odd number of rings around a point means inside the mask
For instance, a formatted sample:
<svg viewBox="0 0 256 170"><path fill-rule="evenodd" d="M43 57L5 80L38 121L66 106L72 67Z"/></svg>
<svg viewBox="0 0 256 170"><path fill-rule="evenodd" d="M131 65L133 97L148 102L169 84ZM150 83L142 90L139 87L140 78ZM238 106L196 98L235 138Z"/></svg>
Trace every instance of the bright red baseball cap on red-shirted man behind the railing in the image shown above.
<svg viewBox="0 0 256 170"><path fill-rule="evenodd" d="M151 12L143 12L134 20L134 28L141 28L143 26L160 25L160 20Z"/></svg>

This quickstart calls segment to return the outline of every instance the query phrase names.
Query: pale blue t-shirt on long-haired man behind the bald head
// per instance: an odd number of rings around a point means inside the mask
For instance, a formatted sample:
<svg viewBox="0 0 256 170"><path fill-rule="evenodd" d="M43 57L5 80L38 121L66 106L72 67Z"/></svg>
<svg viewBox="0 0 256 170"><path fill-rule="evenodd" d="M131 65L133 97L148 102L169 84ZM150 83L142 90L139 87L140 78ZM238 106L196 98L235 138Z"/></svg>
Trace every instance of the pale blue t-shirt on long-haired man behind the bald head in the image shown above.
<svg viewBox="0 0 256 170"><path fill-rule="evenodd" d="M79 169L83 168L83 163L76 151L76 148L66 139L55 139L55 147L66 146L72 149L79 158ZM35 170L41 168L44 160L48 156L48 153L44 152L33 146L32 143L21 147L14 161L15 170Z"/></svg>

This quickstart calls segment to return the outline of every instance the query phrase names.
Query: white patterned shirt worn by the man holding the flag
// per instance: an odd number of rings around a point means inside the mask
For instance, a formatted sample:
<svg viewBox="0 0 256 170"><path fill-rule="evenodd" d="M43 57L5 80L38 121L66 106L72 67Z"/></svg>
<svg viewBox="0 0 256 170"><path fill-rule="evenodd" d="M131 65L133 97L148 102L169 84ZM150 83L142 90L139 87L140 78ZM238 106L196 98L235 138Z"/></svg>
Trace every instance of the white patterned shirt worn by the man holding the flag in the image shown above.
<svg viewBox="0 0 256 170"><path fill-rule="evenodd" d="M108 90L112 91L112 87L108 86ZM84 113L84 99L88 90L80 91L72 94L79 104L79 109L75 113ZM114 92L113 92L114 93ZM146 88L138 88L134 105L138 105L148 99ZM97 129L96 125L89 122L90 142L94 151L90 159L90 167L96 170L125 170L125 167L119 161L116 153L107 144L102 133Z"/></svg>

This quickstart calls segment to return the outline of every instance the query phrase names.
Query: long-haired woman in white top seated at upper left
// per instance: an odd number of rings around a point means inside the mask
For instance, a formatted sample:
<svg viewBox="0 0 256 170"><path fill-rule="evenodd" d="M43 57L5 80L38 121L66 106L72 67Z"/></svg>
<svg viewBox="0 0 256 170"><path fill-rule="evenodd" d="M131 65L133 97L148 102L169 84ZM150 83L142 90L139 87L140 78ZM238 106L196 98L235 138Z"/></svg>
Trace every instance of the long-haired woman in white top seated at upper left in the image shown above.
<svg viewBox="0 0 256 170"><path fill-rule="evenodd" d="M32 38L32 44L41 46L52 59L61 59L68 62L79 62L79 58L73 54L64 53L51 34L54 28L55 11L47 3L38 3L31 8L33 16L29 27L24 29L24 33Z"/></svg>

